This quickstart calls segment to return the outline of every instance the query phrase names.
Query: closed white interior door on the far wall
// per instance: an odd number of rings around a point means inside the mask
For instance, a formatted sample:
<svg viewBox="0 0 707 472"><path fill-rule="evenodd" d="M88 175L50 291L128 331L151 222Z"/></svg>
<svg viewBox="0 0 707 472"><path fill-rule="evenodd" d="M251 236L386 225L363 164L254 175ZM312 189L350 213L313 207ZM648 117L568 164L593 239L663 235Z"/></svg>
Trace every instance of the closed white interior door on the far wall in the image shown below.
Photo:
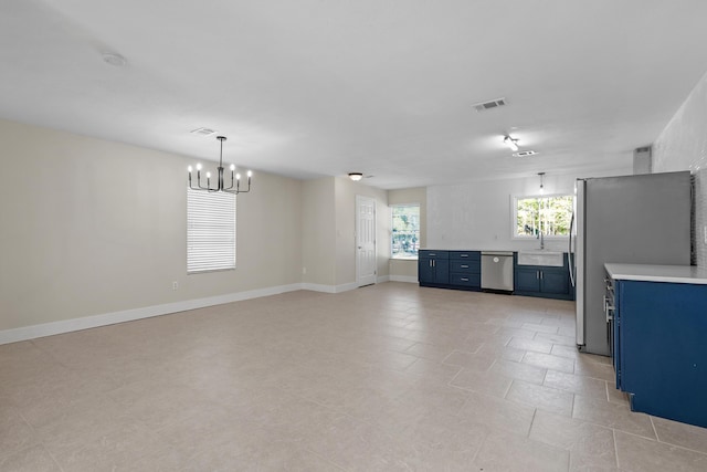
<svg viewBox="0 0 707 472"><path fill-rule="evenodd" d="M356 282L376 283L376 200L356 196Z"/></svg>

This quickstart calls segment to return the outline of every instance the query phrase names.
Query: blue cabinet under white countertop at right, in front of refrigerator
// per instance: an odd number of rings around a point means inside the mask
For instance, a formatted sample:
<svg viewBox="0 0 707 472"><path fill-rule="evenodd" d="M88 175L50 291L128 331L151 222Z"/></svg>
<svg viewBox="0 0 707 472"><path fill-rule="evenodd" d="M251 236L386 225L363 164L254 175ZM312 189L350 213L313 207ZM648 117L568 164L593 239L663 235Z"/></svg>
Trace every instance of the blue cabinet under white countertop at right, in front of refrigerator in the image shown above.
<svg viewBox="0 0 707 472"><path fill-rule="evenodd" d="M614 281L616 387L631 409L707 428L707 285Z"/></svg>

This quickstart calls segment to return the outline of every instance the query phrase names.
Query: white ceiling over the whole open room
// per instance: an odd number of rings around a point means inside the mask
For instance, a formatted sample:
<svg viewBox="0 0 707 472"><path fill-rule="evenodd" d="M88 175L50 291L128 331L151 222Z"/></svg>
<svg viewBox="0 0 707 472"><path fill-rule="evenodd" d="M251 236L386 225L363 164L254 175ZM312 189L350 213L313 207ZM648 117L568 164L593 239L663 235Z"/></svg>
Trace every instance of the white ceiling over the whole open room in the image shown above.
<svg viewBox="0 0 707 472"><path fill-rule="evenodd" d="M386 189L590 176L707 71L705 20L705 0L2 0L0 117L213 160L209 127L242 167Z"/></svg>

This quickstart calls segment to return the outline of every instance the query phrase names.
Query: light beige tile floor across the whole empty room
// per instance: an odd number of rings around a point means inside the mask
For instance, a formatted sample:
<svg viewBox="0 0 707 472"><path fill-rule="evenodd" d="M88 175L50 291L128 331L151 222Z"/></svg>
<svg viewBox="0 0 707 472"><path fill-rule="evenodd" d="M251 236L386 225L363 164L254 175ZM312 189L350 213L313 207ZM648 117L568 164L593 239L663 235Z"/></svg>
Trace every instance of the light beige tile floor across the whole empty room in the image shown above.
<svg viewBox="0 0 707 472"><path fill-rule="evenodd" d="M573 304L384 283L0 346L2 471L706 471Z"/></svg>

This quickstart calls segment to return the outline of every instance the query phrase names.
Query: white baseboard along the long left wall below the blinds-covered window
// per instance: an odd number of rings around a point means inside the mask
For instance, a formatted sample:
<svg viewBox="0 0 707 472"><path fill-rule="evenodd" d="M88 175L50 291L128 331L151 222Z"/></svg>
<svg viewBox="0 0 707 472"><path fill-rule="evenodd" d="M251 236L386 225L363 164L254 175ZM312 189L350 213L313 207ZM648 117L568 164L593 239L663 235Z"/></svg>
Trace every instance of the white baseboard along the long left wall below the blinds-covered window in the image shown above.
<svg viewBox="0 0 707 472"><path fill-rule="evenodd" d="M71 333L81 329L114 325L116 323L133 322L135 319L167 315L170 313L186 312L188 310L203 308L205 306L222 305L224 303L240 302L243 300L260 298L262 296L277 295L286 292L302 290L303 284L279 285L267 289L236 292L226 295L210 296L207 298L187 300L183 302L166 303L162 305L145 306L141 308L125 310L122 312L104 313L101 315L85 316L81 318L63 319L61 322L43 323L41 325L23 326L14 329L0 331L0 345L18 343L38 337L55 334Z"/></svg>

